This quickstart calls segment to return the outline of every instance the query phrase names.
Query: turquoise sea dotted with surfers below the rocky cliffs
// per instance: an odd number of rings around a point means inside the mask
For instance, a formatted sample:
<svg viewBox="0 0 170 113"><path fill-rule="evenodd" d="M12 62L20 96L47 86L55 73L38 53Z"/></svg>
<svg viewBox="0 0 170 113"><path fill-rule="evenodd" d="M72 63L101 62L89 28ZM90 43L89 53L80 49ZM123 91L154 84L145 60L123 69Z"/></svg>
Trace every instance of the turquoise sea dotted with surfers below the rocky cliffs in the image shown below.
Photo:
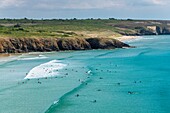
<svg viewBox="0 0 170 113"><path fill-rule="evenodd" d="M31 53L1 61L0 113L170 113L170 36L127 43L137 48ZM54 60L65 66L45 65L53 74L38 78L42 73L35 67ZM34 79L24 79L33 68Z"/></svg>

